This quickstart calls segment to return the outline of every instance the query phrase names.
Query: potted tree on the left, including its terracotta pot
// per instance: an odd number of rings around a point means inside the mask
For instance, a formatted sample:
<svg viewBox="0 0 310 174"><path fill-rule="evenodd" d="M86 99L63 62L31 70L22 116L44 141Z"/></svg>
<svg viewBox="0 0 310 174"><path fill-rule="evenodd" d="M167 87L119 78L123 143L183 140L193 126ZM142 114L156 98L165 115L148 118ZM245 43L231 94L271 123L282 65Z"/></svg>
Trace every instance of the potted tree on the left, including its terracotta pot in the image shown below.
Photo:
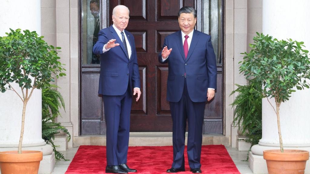
<svg viewBox="0 0 310 174"><path fill-rule="evenodd" d="M0 37L0 90L14 91L23 102L23 111L18 151L0 152L0 169L2 174L38 173L42 152L21 150L27 102L34 89L41 89L55 77L65 75L61 72L65 69L55 50L60 47L48 46L35 31L10 30L7 36ZM19 88L13 88L12 83L17 83Z"/></svg>

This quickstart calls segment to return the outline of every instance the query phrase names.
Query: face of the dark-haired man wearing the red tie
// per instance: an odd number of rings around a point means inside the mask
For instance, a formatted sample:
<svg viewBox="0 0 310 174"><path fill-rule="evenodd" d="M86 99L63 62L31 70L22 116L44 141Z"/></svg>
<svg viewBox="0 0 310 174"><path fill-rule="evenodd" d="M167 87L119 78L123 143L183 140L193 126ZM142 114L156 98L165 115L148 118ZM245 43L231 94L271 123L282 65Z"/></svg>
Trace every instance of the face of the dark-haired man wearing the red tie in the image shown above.
<svg viewBox="0 0 310 174"><path fill-rule="evenodd" d="M179 26L184 34L189 34L193 31L197 18L192 13L181 13L179 17Z"/></svg>

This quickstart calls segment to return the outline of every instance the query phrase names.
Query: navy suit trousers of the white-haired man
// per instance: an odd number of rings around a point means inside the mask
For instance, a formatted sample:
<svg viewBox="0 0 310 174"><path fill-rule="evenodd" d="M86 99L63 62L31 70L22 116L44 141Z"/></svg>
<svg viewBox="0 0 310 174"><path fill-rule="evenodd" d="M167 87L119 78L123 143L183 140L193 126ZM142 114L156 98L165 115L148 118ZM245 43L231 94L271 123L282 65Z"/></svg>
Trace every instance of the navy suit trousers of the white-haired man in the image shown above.
<svg viewBox="0 0 310 174"><path fill-rule="evenodd" d="M103 95L107 125L107 165L109 166L127 163L132 103L129 86L123 95Z"/></svg>

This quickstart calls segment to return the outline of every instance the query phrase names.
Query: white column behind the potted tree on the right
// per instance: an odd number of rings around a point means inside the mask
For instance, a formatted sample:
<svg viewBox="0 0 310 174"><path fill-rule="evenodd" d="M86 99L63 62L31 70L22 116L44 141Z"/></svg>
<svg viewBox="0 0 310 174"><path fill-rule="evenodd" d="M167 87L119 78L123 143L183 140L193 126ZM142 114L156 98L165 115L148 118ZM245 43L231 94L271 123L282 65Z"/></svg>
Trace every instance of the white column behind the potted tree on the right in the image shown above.
<svg viewBox="0 0 310 174"><path fill-rule="evenodd" d="M304 41L310 50L310 3L308 0L263 0L263 34L278 40L291 38ZM269 99L275 106L274 99ZM281 104L280 124L284 149L310 150L310 89L297 90ZM266 98L262 101L262 139L252 147L249 166L253 173L267 173L263 150L280 149L277 116ZM307 163L306 173L310 173Z"/></svg>

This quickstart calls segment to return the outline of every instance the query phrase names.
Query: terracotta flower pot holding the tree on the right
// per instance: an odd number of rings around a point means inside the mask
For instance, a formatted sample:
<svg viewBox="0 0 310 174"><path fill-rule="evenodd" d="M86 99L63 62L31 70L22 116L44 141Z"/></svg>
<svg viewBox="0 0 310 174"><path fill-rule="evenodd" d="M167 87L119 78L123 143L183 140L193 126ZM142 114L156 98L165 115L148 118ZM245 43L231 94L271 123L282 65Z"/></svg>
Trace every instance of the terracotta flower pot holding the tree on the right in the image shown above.
<svg viewBox="0 0 310 174"><path fill-rule="evenodd" d="M304 174L306 161L309 159L307 150L264 150L268 174Z"/></svg>

